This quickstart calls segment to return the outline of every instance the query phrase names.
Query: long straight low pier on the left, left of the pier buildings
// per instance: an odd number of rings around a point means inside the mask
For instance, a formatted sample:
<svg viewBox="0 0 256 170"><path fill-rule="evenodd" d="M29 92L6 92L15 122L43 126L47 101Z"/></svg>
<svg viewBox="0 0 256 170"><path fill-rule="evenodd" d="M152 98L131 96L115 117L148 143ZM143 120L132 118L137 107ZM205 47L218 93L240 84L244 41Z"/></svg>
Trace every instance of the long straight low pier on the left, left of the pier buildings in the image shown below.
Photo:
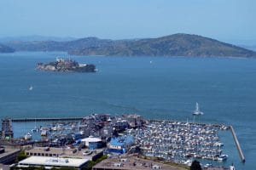
<svg viewBox="0 0 256 170"><path fill-rule="evenodd" d="M36 118L14 118L12 122L65 122L82 121L83 117L36 117Z"/></svg>

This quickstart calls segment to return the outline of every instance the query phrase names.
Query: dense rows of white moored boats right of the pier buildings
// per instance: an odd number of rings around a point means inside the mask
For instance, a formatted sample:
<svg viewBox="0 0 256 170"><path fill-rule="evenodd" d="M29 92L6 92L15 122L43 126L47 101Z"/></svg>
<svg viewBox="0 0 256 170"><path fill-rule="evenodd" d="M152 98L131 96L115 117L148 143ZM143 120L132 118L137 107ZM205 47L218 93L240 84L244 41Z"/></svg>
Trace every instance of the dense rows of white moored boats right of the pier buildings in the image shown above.
<svg viewBox="0 0 256 170"><path fill-rule="evenodd" d="M225 161L218 130L212 125L158 121L127 133L135 136L145 156L189 164L190 158Z"/></svg>

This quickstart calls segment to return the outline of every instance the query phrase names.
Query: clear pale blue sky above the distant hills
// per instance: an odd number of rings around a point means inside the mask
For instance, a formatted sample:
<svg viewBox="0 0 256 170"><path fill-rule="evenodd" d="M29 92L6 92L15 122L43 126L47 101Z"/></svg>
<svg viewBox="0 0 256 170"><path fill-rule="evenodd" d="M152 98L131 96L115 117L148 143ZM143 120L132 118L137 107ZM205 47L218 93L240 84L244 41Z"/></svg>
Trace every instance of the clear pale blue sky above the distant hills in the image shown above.
<svg viewBox="0 0 256 170"><path fill-rule="evenodd" d="M256 44L255 0L0 0L0 37L197 34Z"/></svg>

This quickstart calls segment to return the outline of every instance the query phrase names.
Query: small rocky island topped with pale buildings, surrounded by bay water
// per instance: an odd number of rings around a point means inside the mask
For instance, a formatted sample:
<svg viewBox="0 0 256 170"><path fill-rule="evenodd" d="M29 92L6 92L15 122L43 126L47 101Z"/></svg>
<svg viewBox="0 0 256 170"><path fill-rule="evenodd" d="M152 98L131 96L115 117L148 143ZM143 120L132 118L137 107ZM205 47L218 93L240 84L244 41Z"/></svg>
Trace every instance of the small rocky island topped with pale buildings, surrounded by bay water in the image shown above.
<svg viewBox="0 0 256 170"><path fill-rule="evenodd" d="M60 72L96 72L96 65L79 64L73 59L56 58L48 64L38 63L37 69L41 71L60 71Z"/></svg>

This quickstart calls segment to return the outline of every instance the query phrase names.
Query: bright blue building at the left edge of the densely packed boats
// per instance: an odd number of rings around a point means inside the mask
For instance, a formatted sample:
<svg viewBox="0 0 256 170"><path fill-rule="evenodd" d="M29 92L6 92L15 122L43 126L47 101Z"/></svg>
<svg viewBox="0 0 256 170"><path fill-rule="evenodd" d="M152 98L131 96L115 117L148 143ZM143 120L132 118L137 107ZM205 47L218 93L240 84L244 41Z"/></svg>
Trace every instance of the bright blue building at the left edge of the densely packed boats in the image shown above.
<svg viewBox="0 0 256 170"><path fill-rule="evenodd" d="M132 136L120 136L117 138L112 138L107 144L108 153L113 154L124 154L131 148L131 145L134 144L134 138Z"/></svg>

